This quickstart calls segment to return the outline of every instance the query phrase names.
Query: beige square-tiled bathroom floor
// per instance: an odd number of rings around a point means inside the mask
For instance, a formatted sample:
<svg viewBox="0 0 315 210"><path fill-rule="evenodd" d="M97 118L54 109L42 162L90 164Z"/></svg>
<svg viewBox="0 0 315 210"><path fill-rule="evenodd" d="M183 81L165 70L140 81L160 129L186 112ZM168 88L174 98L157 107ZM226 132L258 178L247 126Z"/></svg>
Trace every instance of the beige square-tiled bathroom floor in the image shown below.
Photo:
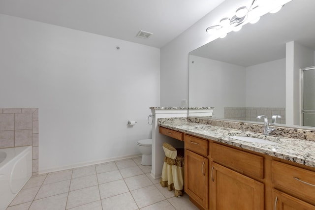
<svg viewBox="0 0 315 210"><path fill-rule="evenodd" d="M150 172L137 157L34 176L7 210L197 210Z"/></svg>

